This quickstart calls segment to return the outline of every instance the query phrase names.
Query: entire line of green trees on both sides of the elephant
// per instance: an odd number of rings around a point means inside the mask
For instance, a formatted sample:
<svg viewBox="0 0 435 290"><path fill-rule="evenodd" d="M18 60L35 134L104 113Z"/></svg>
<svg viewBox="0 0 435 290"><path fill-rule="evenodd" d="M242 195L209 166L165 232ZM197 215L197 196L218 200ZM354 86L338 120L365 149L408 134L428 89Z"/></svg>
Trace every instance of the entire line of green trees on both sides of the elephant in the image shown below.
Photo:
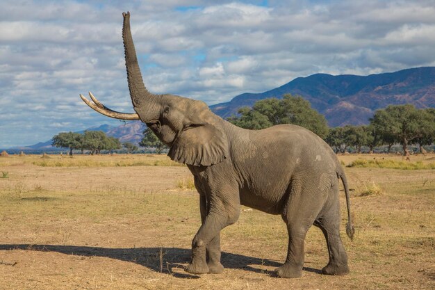
<svg viewBox="0 0 435 290"><path fill-rule="evenodd" d="M262 99L252 108L243 107L238 116L227 120L238 127L246 129L265 129L277 124L296 124L313 131L323 138L335 152L344 153L350 147L360 153L362 147L373 152L375 147L386 146L390 153L395 144L402 145L403 154L409 154L409 145L432 145L435 141L435 108L418 109L411 104L391 105L377 110L370 124L361 126L346 125L330 128L325 116L311 108L306 99L290 94L282 99ZM131 153L138 150L133 143L123 143L115 137L108 137L103 131L85 131L79 133L60 133L53 137L55 147L68 147L73 150L89 150L90 154L99 154L101 150L119 150L122 147ZM167 146L158 140L149 129L143 131L141 147L154 148L157 154L167 150Z"/></svg>

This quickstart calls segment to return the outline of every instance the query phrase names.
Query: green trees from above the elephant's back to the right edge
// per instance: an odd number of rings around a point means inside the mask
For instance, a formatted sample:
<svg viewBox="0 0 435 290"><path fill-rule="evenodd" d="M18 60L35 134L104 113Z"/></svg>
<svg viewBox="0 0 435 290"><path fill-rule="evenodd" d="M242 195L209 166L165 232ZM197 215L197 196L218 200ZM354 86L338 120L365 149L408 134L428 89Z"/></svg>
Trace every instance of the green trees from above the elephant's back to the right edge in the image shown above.
<svg viewBox="0 0 435 290"><path fill-rule="evenodd" d="M377 110L368 125L335 128L329 128L325 116L299 96L262 99L252 108L240 108L238 114L227 120L246 129L297 124L323 138L335 152L345 152L349 147L356 152L368 147L373 152L374 147L386 145L389 153L393 145L400 144L405 155L409 154L409 145L419 145L424 153L423 146L432 145L435 140L435 108L418 109L411 104Z"/></svg>

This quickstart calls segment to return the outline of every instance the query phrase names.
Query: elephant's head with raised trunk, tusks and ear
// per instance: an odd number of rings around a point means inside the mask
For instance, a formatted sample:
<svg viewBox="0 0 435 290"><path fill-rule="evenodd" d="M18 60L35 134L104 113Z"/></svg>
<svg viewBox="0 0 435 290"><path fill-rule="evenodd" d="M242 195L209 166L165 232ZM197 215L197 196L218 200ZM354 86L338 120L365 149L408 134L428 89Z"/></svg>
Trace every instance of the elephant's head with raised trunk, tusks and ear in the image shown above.
<svg viewBox="0 0 435 290"><path fill-rule="evenodd" d="M176 95L156 95L147 90L140 74L136 49L130 31L130 13L122 13L125 65L131 102L136 113L120 113L101 104L91 92L83 102L110 118L142 120L170 147L174 161L193 166L210 166L228 157L228 143L222 124L201 101Z"/></svg>

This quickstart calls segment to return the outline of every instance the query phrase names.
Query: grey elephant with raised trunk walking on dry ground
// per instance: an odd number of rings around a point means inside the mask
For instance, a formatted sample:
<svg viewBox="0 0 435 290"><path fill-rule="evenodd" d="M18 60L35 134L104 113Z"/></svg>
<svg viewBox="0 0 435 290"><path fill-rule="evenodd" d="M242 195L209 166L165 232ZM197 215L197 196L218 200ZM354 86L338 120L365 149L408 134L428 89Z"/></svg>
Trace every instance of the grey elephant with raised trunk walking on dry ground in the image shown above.
<svg viewBox="0 0 435 290"><path fill-rule="evenodd" d="M301 277L304 239L315 225L325 235L329 263L322 273L349 273L340 238L339 180L347 204L346 232L354 236L347 179L331 147L313 132L293 124L249 130L211 112L199 100L156 95L145 88L130 30L122 13L122 38L129 92L136 113L120 113L101 104L91 92L95 111L121 120L141 120L170 150L168 156L192 172L199 193L202 225L192 240L188 273L222 273L220 231L236 223L240 205L281 215L288 230L286 261L278 277Z"/></svg>

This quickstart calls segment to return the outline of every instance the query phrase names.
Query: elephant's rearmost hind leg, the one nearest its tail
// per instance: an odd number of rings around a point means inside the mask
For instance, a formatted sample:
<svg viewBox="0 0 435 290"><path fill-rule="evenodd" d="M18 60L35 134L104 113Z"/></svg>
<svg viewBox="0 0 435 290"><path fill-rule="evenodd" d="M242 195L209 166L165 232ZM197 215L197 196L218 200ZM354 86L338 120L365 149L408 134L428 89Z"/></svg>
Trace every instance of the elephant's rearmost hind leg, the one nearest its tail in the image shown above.
<svg viewBox="0 0 435 290"><path fill-rule="evenodd" d="M341 218L338 193L333 193L329 197L331 200L326 204L327 210L322 211L314 221L314 225L319 227L325 235L329 252L329 263L322 268L322 273L327 275L347 275L349 266L347 265L346 250L340 238Z"/></svg>

